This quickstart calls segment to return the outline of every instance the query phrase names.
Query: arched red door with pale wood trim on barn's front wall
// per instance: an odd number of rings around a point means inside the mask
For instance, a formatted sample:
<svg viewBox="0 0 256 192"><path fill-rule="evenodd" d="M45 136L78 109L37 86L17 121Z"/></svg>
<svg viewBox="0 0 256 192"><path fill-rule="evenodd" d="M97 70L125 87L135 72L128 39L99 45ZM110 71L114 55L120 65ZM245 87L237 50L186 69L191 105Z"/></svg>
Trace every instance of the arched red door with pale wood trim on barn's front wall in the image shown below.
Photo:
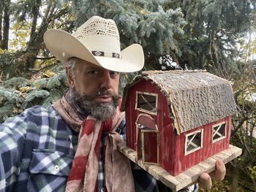
<svg viewBox="0 0 256 192"><path fill-rule="evenodd" d="M149 115L141 114L137 123L137 158L143 162L159 164L159 131Z"/></svg>

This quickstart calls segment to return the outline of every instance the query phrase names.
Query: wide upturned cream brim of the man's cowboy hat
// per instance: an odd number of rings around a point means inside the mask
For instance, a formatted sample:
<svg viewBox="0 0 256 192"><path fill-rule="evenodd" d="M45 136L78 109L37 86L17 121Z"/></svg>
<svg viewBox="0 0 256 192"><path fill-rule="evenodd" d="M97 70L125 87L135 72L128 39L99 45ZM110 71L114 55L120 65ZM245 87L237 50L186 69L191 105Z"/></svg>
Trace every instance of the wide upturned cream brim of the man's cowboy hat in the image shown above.
<svg viewBox="0 0 256 192"><path fill-rule="evenodd" d="M143 49L138 44L130 45L121 51L121 58L95 56L72 34L59 29L50 29L44 34L44 42L50 53L62 62L77 57L97 66L115 72L137 72L143 68Z"/></svg>

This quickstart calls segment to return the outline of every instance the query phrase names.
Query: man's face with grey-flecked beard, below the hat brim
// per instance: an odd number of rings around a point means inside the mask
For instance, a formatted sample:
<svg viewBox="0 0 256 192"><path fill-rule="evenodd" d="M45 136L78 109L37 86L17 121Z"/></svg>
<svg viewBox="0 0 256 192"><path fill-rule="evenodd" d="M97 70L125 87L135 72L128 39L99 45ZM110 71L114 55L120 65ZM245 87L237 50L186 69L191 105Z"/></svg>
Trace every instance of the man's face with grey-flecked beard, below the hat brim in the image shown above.
<svg viewBox="0 0 256 192"><path fill-rule="evenodd" d="M72 99L89 115L106 120L118 105L119 73L77 59L74 73L67 72Z"/></svg>

